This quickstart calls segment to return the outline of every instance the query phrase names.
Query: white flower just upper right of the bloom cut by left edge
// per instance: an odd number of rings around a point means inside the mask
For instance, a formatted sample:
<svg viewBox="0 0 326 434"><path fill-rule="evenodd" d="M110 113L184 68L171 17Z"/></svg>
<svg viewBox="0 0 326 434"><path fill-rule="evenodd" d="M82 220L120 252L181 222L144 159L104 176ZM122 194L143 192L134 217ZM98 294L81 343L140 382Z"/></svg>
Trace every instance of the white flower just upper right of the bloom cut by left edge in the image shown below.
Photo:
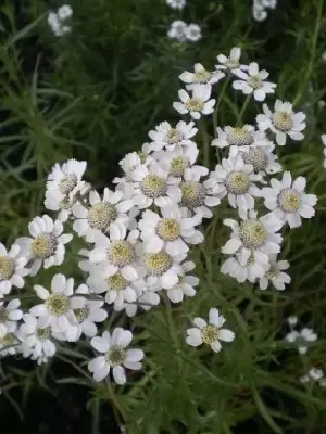
<svg viewBox="0 0 326 434"><path fill-rule="evenodd" d="M51 217L43 215L35 217L28 224L28 230L33 238L18 238L16 244L21 248L20 255L28 259L30 276L35 276L42 264L45 268L61 265L65 254L64 244L73 238L70 233L62 233L62 222L53 222Z"/></svg>

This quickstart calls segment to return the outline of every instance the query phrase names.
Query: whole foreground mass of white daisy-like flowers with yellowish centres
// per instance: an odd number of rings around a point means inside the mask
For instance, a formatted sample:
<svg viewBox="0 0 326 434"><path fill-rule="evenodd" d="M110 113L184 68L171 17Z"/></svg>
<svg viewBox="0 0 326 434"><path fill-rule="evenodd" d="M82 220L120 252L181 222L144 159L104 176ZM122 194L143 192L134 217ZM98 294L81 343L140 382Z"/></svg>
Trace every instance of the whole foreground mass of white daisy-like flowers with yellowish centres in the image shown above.
<svg viewBox="0 0 326 434"><path fill-rule="evenodd" d="M256 101L275 91L276 85L265 81L268 73L254 62L241 64L240 55L240 49L234 48L229 56L217 56L214 71L197 63L192 72L179 76L186 89L173 106L188 119L176 125L162 122L150 130L141 152L120 162L122 175L113 180L113 190L98 192L84 180L86 162L54 165L45 206L57 218L37 216L28 225L30 237L17 239L9 251L0 244L2 356L21 353L42 363L62 342L85 335L97 352L88 363L93 379L102 381L112 368L115 382L125 383L125 368L141 369L143 353L127 349L133 340L129 330L105 330L109 312L134 317L138 309L158 306L161 297L175 304L196 296L199 279L192 273L190 254L204 241L205 221L214 217L216 206L236 214L235 219L224 220L231 234L222 247L228 258L221 272L238 282L259 282L262 290L269 283L284 290L290 282L284 271L289 264L277 259L280 229L296 228L301 218L311 218L316 196L305 193L303 177L292 180L285 171L278 180L269 175L283 170L274 153L277 145L303 138L304 114L293 113L290 103L278 100L274 112L264 105L255 125L240 126L238 119L237 125L216 129L211 144L221 163L213 170L198 162L196 123L216 110L212 95L220 81L235 78L233 88ZM259 215L259 203L260 209L265 205L266 214ZM65 246L73 239L65 233L67 221L85 242L79 267L86 282L75 285L73 278L55 273L50 286L34 285L35 303L28 311L21 310L18 295L7 303L13 286L24 286L25 276L63 264ZM191 346L205 343L220 352L221 342L235 339L223 329L224 322L212 308L209 323L195 318L186 342Z"/></svg>

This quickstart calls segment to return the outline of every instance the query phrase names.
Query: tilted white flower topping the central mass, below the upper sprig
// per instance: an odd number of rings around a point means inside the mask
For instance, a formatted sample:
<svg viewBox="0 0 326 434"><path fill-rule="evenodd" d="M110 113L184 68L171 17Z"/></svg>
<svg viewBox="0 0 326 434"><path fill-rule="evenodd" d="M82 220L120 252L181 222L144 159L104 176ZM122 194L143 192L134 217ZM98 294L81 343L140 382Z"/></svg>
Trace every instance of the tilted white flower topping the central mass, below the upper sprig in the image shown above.
<svg viewBox="0 0 326 434"><path fill-rule="evenodd" d="M179 120L175 128L167 122L163 122L155 127L154 130L149 131L149 137L152 143L149 144L149 151L161 151L166 149L173 151L176 146L192 145L193 141L190 140L198 131L195 123L191 120L189 124L185 120Z"/></svg>

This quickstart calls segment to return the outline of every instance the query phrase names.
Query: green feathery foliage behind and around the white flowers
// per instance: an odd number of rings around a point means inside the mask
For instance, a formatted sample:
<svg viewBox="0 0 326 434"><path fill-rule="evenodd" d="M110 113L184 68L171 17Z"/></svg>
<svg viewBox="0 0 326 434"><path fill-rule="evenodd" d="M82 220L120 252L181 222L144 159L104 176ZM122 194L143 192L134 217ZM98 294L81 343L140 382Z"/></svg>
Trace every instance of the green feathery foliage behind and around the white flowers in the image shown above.
<svg viewBox="0 0 326 434"><path fill-rule="evenodd" d="M8 244L26 234L27 222L43 212L45 180L54 163L87 159L93 187L110 186L125 153L139 150L158 123L178 119L172 102L180 88L179 73L195 62L212 68L216 55L234 46L243 49L243 62L256 61L271 72L278 98L308 114L305 139L278 148L278 153L284 167L294 177L305 176L309 191L318 195L316 217L285 233L283 257L290 261L292 278L285 292L261 292L220 273L220 247L227 239L222 220L228 215L222 208L206 228L204 245L193 252L201 279L196 298L177 307L165 303L133 321L110 317L109 327L135 329L136 343L147 354L145 375L131 376L124 388L95 388L85 372L89 350L83 348L68 353L67 347L60 356L73 368L68 379L57 375L60 361L28 371L8 362L2 390L21 416L28 392L45 390L54 375L57 385L87 385L92 433L99 432L110 406L128 433L228 434L248 420L260 433L326 432L325 390L298 381L312 366L326 372L326 170L319 138L326 131L319 103L326 88L326 10L323 0L279 3L266 22L254 23L250 2L243 0L188 0L181 12L163 0L74 0L73 31L63 38L55 38L47 24L49 8L59 2L15 7L9 1L2 7L0 239ZM177 18L198 23L203 38L185 44L167 39L167 27ZM233 125L243 95L216 89L218 125ZM252 104L242 120L252 122L259 108ZM211 126L205 135L213 137ZM203 157L204 140L198 146ZM210 152L205 161L213 168ZM72 244L64 266L77 281L83 279L79 246ZM37 283L47 284L52 271L38 276ZM29 280L27 293L34 283ZM184 339L189 319L205 317L212 306L221 307L236 332L236 341L218 355L192 349ZM302 357L284 343L285 318L291 314L319 336ZM25 399L11 398L16 387Z"/></svg>

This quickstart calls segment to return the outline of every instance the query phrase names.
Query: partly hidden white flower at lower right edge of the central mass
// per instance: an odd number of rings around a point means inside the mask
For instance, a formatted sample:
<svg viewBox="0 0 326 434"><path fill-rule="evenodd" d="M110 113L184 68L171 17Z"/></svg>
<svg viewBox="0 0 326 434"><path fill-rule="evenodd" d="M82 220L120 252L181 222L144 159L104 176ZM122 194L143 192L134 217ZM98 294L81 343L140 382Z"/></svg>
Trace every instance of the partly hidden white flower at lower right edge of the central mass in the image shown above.
<svg viewBox="0 0 326 434"><path fill-rule="evenodd" d="M196 290L193 286L199 284L199 279L195 276L188 275L189 271L193 270L195 263L186 261L180 264L181 275L179 275L179 281L176 285L167 290L167 296L172 303L181 303L184 296L193 297Z"/></svg>

